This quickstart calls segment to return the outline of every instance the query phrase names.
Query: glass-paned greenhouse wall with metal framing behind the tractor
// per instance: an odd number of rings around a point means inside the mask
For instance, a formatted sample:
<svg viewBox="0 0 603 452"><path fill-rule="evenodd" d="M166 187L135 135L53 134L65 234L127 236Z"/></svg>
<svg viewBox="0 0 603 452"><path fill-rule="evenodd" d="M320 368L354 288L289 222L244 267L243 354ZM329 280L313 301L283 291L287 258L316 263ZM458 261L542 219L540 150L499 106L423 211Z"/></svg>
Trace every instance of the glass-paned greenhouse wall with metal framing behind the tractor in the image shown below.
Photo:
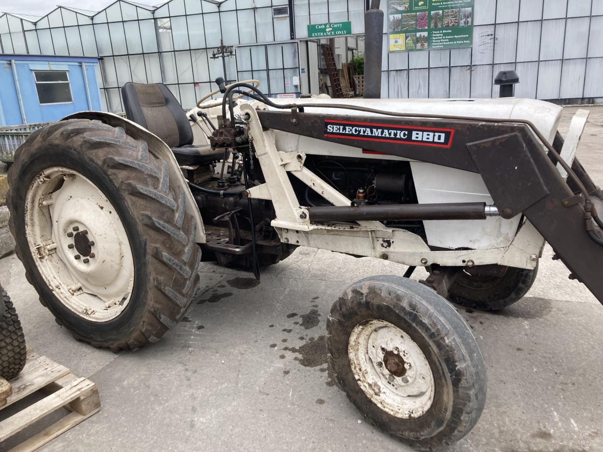
<svg viewBox="0 0 603 452"><path fill-rule="evenodd" d="M273 17L274 7L287 5L292 16ZM306 25L350 20L352 33L361 35L366 6L365 0L171 0L153 8L118 0L98 13L58 7L35 24L5 14L0 45L4 52L98 55L109 111L124 110L119 87L126 81L162 81L189 108L223 75L221 59L212 59L220 39L236 46L236 58L227 58L229 80L256 78L271 95L309 92L306 74L314 69L305 66L314 50L298 42L307 37ZM384 31L387 15L385 22ZM515 69L517 96L603 98L603 0L475 0L473 22L472 48L384 52L382 95L497 96L494 76ZM295 86L294 77L306 86Z"/></svg>

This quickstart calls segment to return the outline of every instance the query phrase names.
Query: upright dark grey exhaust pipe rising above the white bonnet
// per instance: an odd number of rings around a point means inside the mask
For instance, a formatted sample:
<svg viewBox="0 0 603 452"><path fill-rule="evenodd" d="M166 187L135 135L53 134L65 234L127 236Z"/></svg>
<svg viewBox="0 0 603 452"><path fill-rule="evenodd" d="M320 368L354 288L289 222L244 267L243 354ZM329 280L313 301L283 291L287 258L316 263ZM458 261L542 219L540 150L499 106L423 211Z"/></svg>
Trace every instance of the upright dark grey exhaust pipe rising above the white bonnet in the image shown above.
<svg viewBox="0 0 603 452"><path fill-rule="evenodd" d="M364 93L365 99L381 97L381 57L383 55L383 11L380 0L371 0L364 13Z"/></svg>

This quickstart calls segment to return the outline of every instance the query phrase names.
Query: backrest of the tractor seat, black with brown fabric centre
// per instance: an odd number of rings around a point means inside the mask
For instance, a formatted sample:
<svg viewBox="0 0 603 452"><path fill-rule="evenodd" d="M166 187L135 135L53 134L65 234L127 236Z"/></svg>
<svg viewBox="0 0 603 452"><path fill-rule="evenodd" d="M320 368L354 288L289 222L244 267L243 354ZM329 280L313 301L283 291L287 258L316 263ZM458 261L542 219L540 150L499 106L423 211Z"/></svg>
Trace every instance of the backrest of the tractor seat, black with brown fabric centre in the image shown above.
<svg viewBox="0 0 603 452"><path fill-rule="evenodd" d="M125 115L156 134L170 148L192 144L192 129L186 113L163 83L132 83L121 87Z"/></svg>

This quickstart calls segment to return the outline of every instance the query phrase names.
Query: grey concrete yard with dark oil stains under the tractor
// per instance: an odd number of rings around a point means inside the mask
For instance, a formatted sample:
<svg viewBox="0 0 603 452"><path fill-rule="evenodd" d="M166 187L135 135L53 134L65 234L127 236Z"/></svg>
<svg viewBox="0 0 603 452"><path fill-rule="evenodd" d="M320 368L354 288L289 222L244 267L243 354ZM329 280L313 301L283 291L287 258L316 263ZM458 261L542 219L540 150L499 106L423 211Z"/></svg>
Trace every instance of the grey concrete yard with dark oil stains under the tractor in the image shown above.
<svg viewBox="0 0 603 452"><path fill-rule="evenodd" d="M603 184L603 108L590 110L578 155ZM603 451L603 307L551 256L547 247L519 303L495 314L457 306L484 354L488 398L473 431L447 450ZM361 422L333 385L322 342L345 287L404 269L309 248L266 269L261 284L203 265L202 290L183 322L157 344L113 354L72 339L40 305L19 260L5 257L0 281L28 344L89 377L101 394L98 414L41 450L410 450Z"/></svg>

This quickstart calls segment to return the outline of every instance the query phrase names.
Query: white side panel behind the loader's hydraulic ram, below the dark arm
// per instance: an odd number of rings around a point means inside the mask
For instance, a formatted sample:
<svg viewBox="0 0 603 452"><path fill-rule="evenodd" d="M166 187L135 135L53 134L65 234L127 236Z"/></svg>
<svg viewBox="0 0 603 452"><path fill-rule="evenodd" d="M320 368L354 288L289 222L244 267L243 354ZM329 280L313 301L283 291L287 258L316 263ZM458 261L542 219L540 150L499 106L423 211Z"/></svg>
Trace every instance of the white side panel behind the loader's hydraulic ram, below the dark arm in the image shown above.
<svg viewBox="0 0 603 452"><path fill-rule="evenodd" d="M424 162L411 162L411 169L420 204L494 203L479 174ZM485 220L424 221L423 224L431 246L484 250L510 245L520 218L517 215L510 220L490 217Z"/></svg>

